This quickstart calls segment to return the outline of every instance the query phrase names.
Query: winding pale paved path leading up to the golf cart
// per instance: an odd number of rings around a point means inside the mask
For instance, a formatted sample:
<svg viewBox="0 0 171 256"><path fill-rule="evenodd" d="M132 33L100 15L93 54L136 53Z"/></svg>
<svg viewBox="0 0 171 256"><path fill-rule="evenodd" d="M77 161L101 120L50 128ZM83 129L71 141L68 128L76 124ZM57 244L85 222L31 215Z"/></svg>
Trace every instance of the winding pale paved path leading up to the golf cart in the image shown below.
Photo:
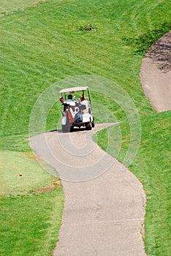
<svg viewBox="0 0 171 256"><path fill-rule="evenodd" d="M145 255L145 193L140 181L92 140L103 128L99 124L93 131L47 132L31 138L31 148L58 170L64 187L54 256Z"/></svg>

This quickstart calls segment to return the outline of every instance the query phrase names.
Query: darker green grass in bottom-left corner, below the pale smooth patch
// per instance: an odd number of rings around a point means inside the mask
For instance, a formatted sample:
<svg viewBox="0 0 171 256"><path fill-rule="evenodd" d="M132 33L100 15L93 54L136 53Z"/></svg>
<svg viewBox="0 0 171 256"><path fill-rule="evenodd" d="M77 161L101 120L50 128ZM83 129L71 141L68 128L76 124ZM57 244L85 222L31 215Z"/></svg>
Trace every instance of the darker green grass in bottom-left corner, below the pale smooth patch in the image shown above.
<svg viewBox="0 0 171 256"><path fill-rule="evenodd" d="M61 224L61 189L1 197L0 205L0 255L52 255Z"/></svg>

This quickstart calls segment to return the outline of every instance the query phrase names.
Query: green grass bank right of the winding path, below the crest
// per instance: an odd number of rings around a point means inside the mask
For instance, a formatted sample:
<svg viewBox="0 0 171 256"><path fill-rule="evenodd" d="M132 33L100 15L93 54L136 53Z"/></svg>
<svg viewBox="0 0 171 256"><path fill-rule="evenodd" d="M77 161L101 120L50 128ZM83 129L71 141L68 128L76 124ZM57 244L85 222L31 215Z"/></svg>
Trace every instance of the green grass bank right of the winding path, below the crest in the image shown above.
<svg viewBox="0 0 171 256"><path fill-rule="evenodd" d="M147 255L170 255L170 129L171 111L141 119L142 142L129 170L142 182L147 197L145 250ZM123 162L129 145L128 127L120 124L123 151L118 152L118 126L99 132L99 146ZM113 133L115 143L106 141ZM117 140L118 139L118 140Z"/></svg>

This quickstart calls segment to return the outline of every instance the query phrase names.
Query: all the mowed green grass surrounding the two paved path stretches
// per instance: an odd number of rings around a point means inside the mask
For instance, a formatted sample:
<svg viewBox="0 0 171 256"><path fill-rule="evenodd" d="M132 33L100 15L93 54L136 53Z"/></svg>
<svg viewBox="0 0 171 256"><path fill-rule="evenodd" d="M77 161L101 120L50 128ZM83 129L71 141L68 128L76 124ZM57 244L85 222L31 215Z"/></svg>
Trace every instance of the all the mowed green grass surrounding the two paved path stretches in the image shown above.
<svg viewBox="0 0 171 256"><path fill-rule="evenodd" d="M0 1L0 255L52 253L64 195L61 188L35 192L53 187L56 177L30 157L25 139L31 110L39 94L53 83L75 75L99 75L125 89L140 114L142 141L129 170L140 179L147 195L145 250L147 255L169 256L171 112L153 110L142 91L139 72L145 50L171 29L170 1L35 2ZM80 31L86 23L92 23L96 31ZM129 147L129 124L124 113L106 100L104 91L105 85L102 95L94 93L92 98L124 121L118 156L123 161ZM46 129L56 129L60 116L61 106L56 103L47 116ZM115 140L115 129L108 129ZM106 149L106 130L99 132L97 141ZM112 147L108 153L115 157Z"/></svg>

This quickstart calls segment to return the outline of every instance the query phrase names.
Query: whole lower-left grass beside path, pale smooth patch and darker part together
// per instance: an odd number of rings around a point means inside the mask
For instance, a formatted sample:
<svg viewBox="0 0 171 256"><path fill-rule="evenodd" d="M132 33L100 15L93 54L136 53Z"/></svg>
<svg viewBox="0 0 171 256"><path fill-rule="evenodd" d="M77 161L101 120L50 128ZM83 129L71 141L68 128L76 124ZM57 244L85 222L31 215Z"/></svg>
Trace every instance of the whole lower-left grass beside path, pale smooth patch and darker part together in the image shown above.
<svg viewBox="0 0 171 256"><path fill-rule="evenodd" d="M64 203L57 173L32 153L1 151L0 159L0 255L51 255Z"/></svg>

